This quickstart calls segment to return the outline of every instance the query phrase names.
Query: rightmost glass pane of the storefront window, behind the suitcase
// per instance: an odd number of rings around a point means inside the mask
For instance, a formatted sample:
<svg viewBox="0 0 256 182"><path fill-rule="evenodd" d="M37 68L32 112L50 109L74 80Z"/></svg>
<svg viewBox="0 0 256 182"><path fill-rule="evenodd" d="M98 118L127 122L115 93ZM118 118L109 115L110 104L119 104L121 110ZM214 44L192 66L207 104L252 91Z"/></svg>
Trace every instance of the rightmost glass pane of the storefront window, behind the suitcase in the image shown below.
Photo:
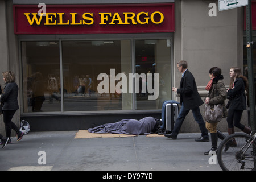
<svg viewBox="0 0 256 182"><path fill-rule="evenodd" d="M161 109L164 100L171 100L171 40L136 40L135 68L139 75L149 76L141 79L136 109Z"/></svg>

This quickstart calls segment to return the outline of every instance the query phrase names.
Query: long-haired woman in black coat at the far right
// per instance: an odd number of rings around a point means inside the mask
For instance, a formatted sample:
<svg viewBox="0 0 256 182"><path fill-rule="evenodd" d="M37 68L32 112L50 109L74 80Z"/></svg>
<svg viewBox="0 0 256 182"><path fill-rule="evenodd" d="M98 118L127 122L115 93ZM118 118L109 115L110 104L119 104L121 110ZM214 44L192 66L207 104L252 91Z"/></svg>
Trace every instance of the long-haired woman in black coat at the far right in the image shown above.
<svg viewBox="0 0 256 182"><path fill-rule="evenodd" d="M243 110L246 110L245 89L248 87L248 80L242 76L241 69L232 67L229 71L230 85L227 93L228 102L228 133L234 133L234 126L241 129L243 132L250 134L251 129L240 123Z"/></svg>

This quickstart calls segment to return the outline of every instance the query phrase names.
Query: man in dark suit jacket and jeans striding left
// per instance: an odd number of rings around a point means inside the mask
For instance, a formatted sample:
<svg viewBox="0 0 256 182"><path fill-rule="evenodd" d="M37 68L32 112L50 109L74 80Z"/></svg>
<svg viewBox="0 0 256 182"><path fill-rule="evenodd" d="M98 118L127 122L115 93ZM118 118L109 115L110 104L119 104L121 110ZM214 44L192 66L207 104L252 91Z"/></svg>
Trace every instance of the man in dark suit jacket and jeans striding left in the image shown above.
<svg viewBox="0 0 256 182"><path fill-rule="evenodd" d="M180 81L180 88L177 89L173 87L172 91L180 94L181 108L179 116L177 117L177 120L175 122L174 129L170 134L164 134L164 136L172 139L177 139L177 135L179 134L179 130L185 117L189 113L189 110L192 110L193 117L199 124L199 128L202 133L201 137L195 140L196 142L208 142L208 131L205 128L205 122L199 109L199 106L202 105L204 102L203 100L201 100L201 97L199 96L199 93L197 91L195 78L193 77L192 73L188 71L187 68L187 61L182 60L177 63L177 69L179 69L179 71L182 73L182 78Z"/></svg>

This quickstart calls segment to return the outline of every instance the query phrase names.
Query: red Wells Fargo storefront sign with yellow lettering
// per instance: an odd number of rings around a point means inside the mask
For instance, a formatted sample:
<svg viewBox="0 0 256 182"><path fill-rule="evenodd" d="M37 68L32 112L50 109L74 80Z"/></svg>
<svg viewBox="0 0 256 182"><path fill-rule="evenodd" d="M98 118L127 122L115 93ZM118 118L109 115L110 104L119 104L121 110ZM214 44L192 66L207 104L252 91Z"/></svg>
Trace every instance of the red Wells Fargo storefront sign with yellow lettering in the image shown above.
<svg viewBox="0 0 256 182"><path fill-rule="evenodd" d="M174 3L129 5L13 5L15 34L174 32ZM40 11L41 12L41 11Z"/></svg>

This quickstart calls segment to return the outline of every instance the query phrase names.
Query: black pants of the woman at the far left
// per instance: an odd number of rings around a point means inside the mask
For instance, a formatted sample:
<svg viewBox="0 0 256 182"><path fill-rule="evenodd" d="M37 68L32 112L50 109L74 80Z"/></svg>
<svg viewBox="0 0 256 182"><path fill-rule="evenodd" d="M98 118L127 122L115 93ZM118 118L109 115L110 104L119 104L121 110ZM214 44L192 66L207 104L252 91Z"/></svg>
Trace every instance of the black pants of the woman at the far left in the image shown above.
<svg viewBox="0 0 256 182"><path fill-rule="evenodd" d="M3 122L5 123L5 133L6 137L11 137L11 129L19 134L19 128L11 121L13 119L13 115L15 114L16 110L3 110Z"/></svg>

